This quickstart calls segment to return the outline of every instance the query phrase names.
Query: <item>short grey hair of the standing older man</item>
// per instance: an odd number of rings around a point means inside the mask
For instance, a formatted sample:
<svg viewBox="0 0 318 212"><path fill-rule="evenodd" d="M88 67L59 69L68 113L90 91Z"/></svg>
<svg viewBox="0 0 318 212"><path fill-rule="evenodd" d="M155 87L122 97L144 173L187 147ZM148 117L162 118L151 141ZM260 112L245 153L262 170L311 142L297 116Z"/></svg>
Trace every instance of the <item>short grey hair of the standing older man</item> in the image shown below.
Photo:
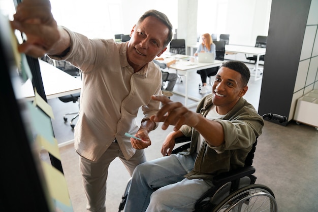
<svg viewBox="0 0 318 212"><path fill-rule="evenodd" d="M139 18L136 25L138 26L148 16L155 17L156 19L160 20L168 27L169 34L168 34L168 38L165 40L164 47L168 46L173 36L172 24L170 23L168 17L164 13L159 12L157 10L148 10Z"/></svg>

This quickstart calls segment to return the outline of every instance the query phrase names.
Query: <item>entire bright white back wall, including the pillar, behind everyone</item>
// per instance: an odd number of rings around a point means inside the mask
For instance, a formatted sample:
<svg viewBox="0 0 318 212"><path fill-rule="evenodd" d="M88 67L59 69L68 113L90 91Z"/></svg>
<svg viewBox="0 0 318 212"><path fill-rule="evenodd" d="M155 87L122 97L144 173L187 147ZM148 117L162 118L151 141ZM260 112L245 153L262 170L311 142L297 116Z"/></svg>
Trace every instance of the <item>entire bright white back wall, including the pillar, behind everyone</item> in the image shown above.
<svg viewBox="0 0 318 212"><path fill-rule="evenodd" d="M12 2L0 0L2 6ZM51 5L59 25L89 38L129 34L145 11L156 9L169 17L186 45L209 32L229 33L230 44L253 46L258 35L267 36L271 0L51 0Z"/></svg>

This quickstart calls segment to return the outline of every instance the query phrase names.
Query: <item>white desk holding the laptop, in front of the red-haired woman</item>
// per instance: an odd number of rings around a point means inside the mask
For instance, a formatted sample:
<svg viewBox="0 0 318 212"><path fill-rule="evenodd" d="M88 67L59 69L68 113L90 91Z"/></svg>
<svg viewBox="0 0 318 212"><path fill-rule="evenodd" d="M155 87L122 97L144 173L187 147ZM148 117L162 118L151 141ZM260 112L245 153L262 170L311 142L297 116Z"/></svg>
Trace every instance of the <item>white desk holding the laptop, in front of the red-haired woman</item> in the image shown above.
<svg viewBox="0 0 318 212"><path fill-rule="evenodd" d="M175 58L180 58L180 55L163 55L163 58L165 58L165 62L169 62L172 59ZM186 55L183 55L186 57ZM200 69L205 69L205 68L211 68L211 67L217 67L220 66L224 61L221 60L215 60L214 62L190 62L190 61L186 61L186 60L182 60L182 58L176 62L175 64L170 65L170 69L175 69L177 70L177 72L182 72L182 74L185 76L185 93L181 93L178 91L173 91L173 93L184 96L184 105L186 107L193 107L194 105L197 104L193 103L193 104L187 104L187 100L188 99L193 99L195 101L199 101L200 98L196 98L193 96L188 96L188 77L187 77L187 73L189 72L197 72L197 70Z"/></svg>

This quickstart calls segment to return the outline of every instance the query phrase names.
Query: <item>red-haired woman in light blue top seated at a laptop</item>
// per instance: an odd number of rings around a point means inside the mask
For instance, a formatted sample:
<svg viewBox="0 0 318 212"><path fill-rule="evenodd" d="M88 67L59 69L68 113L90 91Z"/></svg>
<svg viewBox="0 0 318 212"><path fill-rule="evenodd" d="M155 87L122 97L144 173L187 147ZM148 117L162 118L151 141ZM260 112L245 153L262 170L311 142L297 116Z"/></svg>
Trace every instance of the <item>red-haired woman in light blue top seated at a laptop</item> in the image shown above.
<svg viewBox="0 0 318 212"><path fill-rule="evenodd" d="M209 33L202 34L202 44L199 45L197 51L195 52L195 57L198 56L198 52L211 52L214 53L215 56L215 44L213 44L211 35ZM197 71L197 73L200 74L202 81L202 88L200 90L201 94L205 94L209 91L206 86L206 78L209 74L212 74L212 72L214 72L213 68L206 68Z"/></svg>

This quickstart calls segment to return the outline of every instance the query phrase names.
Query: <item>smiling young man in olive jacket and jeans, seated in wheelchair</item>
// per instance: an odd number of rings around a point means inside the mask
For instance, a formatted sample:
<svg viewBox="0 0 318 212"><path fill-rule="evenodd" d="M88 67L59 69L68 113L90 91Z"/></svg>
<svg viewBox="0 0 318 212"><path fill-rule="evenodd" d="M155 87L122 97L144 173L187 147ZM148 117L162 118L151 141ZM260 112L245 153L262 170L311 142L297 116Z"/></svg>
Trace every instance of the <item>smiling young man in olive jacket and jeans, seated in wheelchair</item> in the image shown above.
<svg viewBox="0 0 318 212"><path fill-rule="evenodd" d="M213 186L216 174L244 166L245 158L261 135L263 118L244 98L250 77L248 67L228 61L218 70L212 93L192 112L165 96L162 109L151 120L163 122L164 156L136 167L124 211L194 211L195 202ZM187 151L171 154L175 138L191 136ZM131 139L134 148L141 146Z"/></svg>

